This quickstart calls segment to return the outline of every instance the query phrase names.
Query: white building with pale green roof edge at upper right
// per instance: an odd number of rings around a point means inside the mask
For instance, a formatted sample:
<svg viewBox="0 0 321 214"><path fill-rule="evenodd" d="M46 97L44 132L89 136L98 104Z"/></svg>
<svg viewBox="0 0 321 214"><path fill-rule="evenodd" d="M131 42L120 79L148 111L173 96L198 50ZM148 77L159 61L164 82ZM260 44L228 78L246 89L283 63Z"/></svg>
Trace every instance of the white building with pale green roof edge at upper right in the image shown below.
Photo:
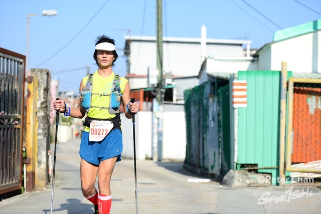
<svg viewBox="0 0 321 214"><path fill-rule="evenodd" d="M321 20L276 31L273 42L260 48L256 70L281 69L294 73L321 73Z"/></svg>

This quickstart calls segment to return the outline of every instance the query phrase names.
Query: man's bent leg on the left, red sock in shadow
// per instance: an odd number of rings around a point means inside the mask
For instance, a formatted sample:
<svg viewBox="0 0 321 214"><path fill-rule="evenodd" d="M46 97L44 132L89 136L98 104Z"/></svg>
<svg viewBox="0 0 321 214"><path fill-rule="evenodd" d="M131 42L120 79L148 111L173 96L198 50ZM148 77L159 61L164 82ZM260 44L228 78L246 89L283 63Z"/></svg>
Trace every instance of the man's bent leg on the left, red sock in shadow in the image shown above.
<svg viewBox="0 0 321 214"><path fill-rule="evenodd" d="M80 179L83 195L92 202L95 207L98 204L98 191L95 188L95 182L98 172L98 165L88 163L84 159L80 161ZM96 208L95 208L96 211Z"/></svg>

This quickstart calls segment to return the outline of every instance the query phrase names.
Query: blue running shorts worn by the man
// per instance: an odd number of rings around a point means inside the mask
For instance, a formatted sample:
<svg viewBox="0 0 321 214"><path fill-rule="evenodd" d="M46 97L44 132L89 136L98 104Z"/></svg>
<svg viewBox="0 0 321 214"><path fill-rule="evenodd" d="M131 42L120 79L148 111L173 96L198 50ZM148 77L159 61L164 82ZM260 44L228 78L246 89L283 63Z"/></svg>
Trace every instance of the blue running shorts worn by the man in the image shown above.
<svg viewBox="0 0 321 214"><path fill-rule="evenodd" d="M83 131L79 155L89 163L99 165L100 161L117 156L121 160L122 133L119 129L110 131L107 136L98 142L89 141L89 132Z"/></svg>

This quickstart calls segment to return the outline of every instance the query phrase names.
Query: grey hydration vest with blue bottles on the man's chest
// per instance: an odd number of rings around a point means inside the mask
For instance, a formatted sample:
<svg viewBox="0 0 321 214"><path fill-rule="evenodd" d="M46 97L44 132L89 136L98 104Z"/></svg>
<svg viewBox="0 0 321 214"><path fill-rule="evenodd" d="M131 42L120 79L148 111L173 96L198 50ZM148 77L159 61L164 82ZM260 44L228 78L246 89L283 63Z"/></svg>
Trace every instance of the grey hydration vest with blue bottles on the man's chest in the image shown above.
<svg viewBox="0 0 321 214"><path fill-rule="evenodd" d="M100 109L107 109L109 114L119 114L120 113L120 101L122 94L118 93L114 90L116 84L120 84L120 77L119 75L115 74L112 87L111 87L111 93L110 94L98 94L98 93L92 93L92 82L93 82L93 74L90 74L86 85L83 87L82 91L80 92L81 96L81 106L86 110L87 114L90 111L90 108L100 108ZM92 106L91 105L91 96L92 95L100 95L100 96L109 96L109 107L105 106Z"/></svg>

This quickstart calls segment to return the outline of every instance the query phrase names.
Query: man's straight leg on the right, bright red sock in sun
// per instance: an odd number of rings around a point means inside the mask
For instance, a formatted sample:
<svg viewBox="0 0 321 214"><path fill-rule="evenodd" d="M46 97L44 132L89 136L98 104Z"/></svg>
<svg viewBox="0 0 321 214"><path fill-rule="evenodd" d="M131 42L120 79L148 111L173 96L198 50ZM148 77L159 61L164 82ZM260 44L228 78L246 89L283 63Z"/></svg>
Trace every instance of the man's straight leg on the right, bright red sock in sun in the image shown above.
<svg viewBox="0 0 321 214"><path fill-rule="evenodd" d="M99 213L109 214L111 207L110 179L117 157L100 162L98 168L98 209Z"/></svg>

